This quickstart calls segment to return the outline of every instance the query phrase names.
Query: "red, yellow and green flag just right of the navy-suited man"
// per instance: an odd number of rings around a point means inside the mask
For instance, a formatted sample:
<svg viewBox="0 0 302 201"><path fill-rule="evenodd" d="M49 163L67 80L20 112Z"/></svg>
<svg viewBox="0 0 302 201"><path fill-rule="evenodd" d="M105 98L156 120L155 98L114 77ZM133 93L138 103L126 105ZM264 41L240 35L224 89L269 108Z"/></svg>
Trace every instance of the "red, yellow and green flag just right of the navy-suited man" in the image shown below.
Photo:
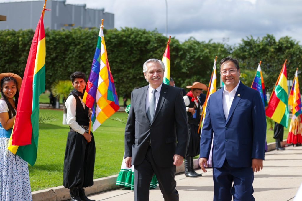
<svg viewBox="0 0 302 201"><path fill-rule="evenodd" d="M283 64L282 70L268 101L268 108L266 108L266 116L275 122L288 127L288 86L287 86L287 73L286 61Z"/></svg>

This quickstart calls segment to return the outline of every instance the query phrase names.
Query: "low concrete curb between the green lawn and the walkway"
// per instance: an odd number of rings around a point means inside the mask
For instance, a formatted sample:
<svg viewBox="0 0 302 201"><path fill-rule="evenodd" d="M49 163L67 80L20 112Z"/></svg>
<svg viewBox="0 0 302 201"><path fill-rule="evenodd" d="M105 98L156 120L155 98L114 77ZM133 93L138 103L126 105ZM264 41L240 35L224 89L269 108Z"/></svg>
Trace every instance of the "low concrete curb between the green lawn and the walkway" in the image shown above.
<svg viewBox="0 0 302 201"><path fill-rule="evenodd" d="M286 140L283 140L282 146L288 145ZM268 144L268 151L276 149L275 143ZM194 159L194 169L200 168L198 164L198 159ZM185 172L185 164L176 167L176 174ZM118 174L94 179L94 184L91 187L85 188L85 194L91 195L108 190L113 190L121 188L115 184ZM70 200L69 189L64 186L57 186L52 188L47 188L43 190L37 190L31 192L33 201L64 201Z"/></svg>

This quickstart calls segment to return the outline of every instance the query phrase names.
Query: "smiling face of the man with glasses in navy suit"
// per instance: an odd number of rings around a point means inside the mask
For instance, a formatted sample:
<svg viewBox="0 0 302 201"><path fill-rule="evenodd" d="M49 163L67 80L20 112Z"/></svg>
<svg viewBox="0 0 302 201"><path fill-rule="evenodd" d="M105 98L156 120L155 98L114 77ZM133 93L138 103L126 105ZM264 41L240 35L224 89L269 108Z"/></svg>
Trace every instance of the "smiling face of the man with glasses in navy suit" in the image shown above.
<svg viewBox="0 0 302 201"><path fill-rule="evenodd" d="M229 70L235 70L234 73L230 73ZM225 75L223 75L221 72L227 71ZM229 92L232 91L237 84L239 83L239 77L240 77L240 69L237 70L235 64L233 61L226 61L220 66L220 75L223 83L226 86L226 90Z"/></svg>

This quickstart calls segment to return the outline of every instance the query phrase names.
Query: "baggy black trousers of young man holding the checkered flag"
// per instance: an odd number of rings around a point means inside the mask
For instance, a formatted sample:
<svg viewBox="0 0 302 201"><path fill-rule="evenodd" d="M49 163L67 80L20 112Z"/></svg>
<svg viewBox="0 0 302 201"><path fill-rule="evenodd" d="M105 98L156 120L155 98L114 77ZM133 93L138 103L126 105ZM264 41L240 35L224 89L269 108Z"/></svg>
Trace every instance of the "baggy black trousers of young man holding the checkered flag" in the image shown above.
<svg viewBox="0 0 302 201"><path fill-rule="evenodd" d="M92 132L91 142L77 132L69 131L67 136L63 186L65 188L88 187L93 185L95 164L95 140Z"/></svg>

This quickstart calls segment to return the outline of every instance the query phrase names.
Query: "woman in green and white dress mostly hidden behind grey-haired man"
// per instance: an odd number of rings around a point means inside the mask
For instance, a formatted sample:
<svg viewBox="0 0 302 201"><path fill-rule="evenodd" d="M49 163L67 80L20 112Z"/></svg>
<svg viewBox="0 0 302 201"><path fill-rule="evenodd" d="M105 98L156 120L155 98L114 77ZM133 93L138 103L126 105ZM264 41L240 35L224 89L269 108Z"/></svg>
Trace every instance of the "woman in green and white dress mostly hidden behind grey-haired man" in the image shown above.
<svg viewBox="0 0 302 201"><path fill-rule="evenodd" d="M130 105L125 108L125 112L129 113ZM116 185L122 186L124 188L130 188L134 190L134 167L127 168L125 163L125 155L123 156L122 165L120 167L120 172L116 179ZM155 174L150 182L150 188L156 188L158 184Z"/></svg>

